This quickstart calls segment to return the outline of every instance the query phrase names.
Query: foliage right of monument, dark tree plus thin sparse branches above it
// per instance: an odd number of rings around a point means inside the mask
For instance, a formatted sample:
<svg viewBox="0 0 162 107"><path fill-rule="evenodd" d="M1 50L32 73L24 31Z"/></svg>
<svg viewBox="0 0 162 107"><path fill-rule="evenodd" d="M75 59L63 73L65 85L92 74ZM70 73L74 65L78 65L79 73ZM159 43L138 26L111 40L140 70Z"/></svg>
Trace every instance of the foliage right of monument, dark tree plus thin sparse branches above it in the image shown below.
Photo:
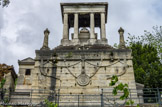
<svg viewBox="0 0 162 107"><path fill-rule="evenodd" d="M145 36L129 36L128 47L132 49L135 80L148 88L162 87L162 27L153 27L154 33Z"/></svg>

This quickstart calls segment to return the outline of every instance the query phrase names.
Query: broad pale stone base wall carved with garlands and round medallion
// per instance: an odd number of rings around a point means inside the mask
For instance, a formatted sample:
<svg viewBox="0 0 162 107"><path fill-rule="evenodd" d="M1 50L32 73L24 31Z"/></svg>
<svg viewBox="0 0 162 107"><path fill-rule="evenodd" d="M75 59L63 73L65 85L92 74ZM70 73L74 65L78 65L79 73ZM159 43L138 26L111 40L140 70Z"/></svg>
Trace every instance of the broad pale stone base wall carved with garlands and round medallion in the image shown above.
<svg viewBox="0 0 162 107"><path fill-rule="evenodd" d="M53 56L54 53L57 57ZM54 60L57 60L56 66ZM80 77L82 71L86 76ZM127 83L130 89L136 91L130 50L46 52L38 50L32 73L32 89L50 89L60 95L100 95L101 89L112 89L109 83L113 75L118 76L119 82ZM40 96L43 96L43 93L39 93L39 96L33 95L33 98ZM137 98L137 92L134 92L132 97Z"/></svg>

